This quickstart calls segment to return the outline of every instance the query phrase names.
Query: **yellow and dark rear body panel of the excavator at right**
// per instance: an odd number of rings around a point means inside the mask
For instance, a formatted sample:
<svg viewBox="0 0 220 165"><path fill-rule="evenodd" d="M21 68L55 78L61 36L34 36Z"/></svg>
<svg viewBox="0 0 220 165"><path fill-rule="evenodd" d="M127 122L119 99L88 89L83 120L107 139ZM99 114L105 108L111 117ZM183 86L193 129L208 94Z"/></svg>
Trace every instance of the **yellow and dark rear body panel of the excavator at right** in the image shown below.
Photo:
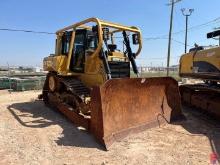
<svg viewBox="0 0 220 165"><path fill-rule="evenodd" d="M184 54L180 59L180 76L220 80L220 47Z"/></svg>

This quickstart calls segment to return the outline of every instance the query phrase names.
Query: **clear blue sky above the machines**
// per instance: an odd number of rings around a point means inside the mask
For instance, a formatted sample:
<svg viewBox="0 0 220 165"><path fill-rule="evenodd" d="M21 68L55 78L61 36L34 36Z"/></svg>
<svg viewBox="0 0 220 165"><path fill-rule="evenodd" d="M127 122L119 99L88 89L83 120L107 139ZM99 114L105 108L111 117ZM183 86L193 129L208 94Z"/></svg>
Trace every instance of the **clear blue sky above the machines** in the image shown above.
<svg viewBox="0 0 220 165"><path fill-rule="evenodd" d="M165 66L170 21L169 0L2 0L0 29L55 32L89 17L129 26L143 34L141 66ZM193 8L189 17L188 45L217 45L206 33L220 27L219 0L182 0L175 4L171 65L184 52L185 17L181 8ZM205 24L205 25L202 25ZM197 26L201 25L201 26ZM195 27L196 26L196 27ZM175 32L182 31L178 34ZM152 39L152 38L159 39ZM162 38L161 38L162 37ZM41 66L55 50L55 35L0 30L0 66Z"/></svg>

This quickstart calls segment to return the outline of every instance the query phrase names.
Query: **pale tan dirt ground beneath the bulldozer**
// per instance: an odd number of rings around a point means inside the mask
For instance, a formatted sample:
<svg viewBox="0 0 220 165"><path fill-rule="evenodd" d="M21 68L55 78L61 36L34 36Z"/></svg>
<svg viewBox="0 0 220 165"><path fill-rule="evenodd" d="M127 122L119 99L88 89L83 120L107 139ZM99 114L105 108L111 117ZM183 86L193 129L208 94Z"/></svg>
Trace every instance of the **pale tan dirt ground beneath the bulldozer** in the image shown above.
<svg viewBox="0 0 220 165"><path fill-rule="evenodd" d="M35 101L0 91L0 164L209 164L220 124L189 108L187 120L130 135L105 151L92 135ZM200 118L198 118L200 117Z"/></svg>

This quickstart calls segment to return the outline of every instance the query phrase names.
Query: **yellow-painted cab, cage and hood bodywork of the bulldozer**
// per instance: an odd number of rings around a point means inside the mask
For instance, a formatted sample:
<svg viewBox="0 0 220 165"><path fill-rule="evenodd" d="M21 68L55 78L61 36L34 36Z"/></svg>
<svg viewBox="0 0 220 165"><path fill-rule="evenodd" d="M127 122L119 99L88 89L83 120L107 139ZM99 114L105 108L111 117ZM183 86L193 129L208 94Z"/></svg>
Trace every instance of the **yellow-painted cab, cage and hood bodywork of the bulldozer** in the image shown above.
<svg viewBox="0 0 220 165"><path fill-rule="evenodd" d="M98 26L99 43L97 45L96 50L94 50L94 52L92 52L90 55L88 54L85 55L84 73L72 72L69 68L70 68L72 52L74 52L73 45L75 40L75 30L78 28L91 30L92 27L87 26L88 23L95 23ZM111 37L112 43L114 42L113 41L114 34L118 32L121 33L121 31L123 30L139 34L138 39L140 44L135 55L137 56L140 53L142 48L142 39L141 39L141 32L137 27L134 26L129 27L116 23L106 22L103 20L99 20L98 18L89 18L79 23L65 27L56 32L57 42L56 42L55 55L44 58L44 62L43 62L44 70L50 72L53 71L63 76L77 75L84 82L84 84L89 87L103 84L107 80L106 78L107 76L104 71L103 61L99 57L100 51L103 47L103 35L102 35L103 27L109 27L110 29L112 29L110 31L110 35L112 36ZM65 31L73 31L70 41L69 53L68 55L60 55L62 35L64 34ZM129 61L129 60L127 57L124 56L123 53L115 51L108 56L108 61Z"/></svg>

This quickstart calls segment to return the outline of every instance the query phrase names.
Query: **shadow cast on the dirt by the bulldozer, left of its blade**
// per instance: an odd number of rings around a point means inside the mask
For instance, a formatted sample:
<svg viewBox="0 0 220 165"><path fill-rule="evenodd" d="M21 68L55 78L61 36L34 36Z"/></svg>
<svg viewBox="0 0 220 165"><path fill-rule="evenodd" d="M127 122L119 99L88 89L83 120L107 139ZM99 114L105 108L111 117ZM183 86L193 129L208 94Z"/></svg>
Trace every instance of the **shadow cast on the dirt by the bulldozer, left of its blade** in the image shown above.
<svg viewBox="0 0 220 165"><path fill-rule="evenodd" d="M58 111L47 108L42 101L14 103L8 106L8 110L25 127L45 128L59 125L63 132L56 141L58 145L105 150L86 130L79 129Z"/></svg>

